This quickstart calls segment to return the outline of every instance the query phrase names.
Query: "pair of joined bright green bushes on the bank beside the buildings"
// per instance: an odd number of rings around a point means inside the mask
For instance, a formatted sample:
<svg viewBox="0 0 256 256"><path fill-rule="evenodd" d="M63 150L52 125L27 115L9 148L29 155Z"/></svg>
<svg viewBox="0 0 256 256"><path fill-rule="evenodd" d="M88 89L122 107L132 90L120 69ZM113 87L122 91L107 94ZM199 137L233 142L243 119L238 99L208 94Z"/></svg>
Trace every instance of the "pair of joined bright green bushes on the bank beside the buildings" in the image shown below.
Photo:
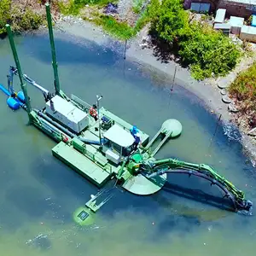
<svg viewBox="0 0 256 256"><path fill-rule="evenodd" d="M207 24L189 23L189 14L180 0L156 1L151 17L152 32L171 45L191 67L195 79L225 75L236 67L241 56L238 47Z"/></svg>

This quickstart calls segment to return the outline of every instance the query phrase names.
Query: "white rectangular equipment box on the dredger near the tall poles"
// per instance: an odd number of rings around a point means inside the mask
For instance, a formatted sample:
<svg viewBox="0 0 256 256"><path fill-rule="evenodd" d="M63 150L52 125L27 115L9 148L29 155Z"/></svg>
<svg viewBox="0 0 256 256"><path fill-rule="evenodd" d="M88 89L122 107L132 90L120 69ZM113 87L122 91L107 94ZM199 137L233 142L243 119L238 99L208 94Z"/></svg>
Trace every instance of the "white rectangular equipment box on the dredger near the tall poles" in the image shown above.
<svg viewBox="0 0 256 256"><path fill-rule="evenodd" d="M54 96L51 101L54 108L52 109L50 101L46 102L46 113L61 125L76 133L89 125L88 113L75 107L71 102L67 102L61 96Z"/></svg>

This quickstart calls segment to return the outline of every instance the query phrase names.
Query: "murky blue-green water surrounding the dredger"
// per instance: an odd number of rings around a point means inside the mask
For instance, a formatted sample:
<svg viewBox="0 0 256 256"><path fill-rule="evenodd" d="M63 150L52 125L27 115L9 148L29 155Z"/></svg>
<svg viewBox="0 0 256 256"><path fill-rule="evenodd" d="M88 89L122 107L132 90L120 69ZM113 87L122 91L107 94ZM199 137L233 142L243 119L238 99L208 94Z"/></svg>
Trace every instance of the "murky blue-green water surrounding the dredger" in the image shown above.
<svg viewBox="0 0 256 256"><path fill-rule="evenodd" d="M255 169L221 125L210 143L217 118L195 96L179 85L170 96L171 84L160 74L124 65L122 56L109 49L67 34L55 37L62 90L90 103L102 94L105 108L151 137L166 119L180 120L182 136L167 143L157 158L210 164L255 201ZM53 90L48 38L34 35L15 42L23 72ZM6 84L9 65L14 65L7 40L0 42L0 60L0 82ZM44 105L30 85L28 92L33 107ZM26 125L24 111L12 112L2 93L0 117L1 255L240 256L255 251L256 218L224 211L221 191L196 177L170 175L166 189L154 196L115 189L95 224L78 227L73 211L96 188L53 158L55 143Z"/></svg>

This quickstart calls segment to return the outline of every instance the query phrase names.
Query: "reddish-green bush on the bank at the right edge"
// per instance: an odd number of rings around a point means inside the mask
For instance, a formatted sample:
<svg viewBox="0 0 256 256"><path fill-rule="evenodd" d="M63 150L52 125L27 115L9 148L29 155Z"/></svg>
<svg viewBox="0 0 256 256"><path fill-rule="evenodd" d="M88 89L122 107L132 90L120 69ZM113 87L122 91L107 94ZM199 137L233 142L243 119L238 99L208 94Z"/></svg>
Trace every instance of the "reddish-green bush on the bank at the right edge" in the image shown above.
<svg viewBox="0 0 256 256"><path fill-rule="evenodd" d="M256 111L256 62L236 77L235 81L230 84L229 91L231 96L244 102L242 110Z"/></svg>

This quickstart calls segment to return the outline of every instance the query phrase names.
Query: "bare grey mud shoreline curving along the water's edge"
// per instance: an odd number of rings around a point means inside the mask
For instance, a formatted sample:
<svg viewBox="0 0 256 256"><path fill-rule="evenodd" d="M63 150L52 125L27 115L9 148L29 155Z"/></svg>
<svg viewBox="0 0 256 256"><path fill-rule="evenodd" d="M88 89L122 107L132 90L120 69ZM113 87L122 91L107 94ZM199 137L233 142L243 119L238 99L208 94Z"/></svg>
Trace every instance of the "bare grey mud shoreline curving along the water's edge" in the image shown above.
<svg viewBox="0 0 256 256"><path fill-rule="evenodd" d="M93 41L96 44L106 45L109 47L114 38L108 36L105 32L102 32L101 27L96 26L89 21L82 20L81 18L66 17L56 20L55 29L60 32L66 32L67 34L84 38ZM214 82L211 81L197 81L193 79L189 73L188 68L183 68L177 65L174 61L168 61L163 63L157 60L157 57L153 55L153 49L144 48L140 46L143 38L148 35L147 27L144 27L141 32L137 34L136 38L132 38L127 42L127 49L125 52L126 60L136 62L142 65L148 71L154 69L160 73L165 74L166 79L172 83L175 67L177 66L177 73L175 78L175 84L178 84L189 90L197 98L204 103L205 108L215 115L221 115L221 122L224 125L235 125L241 133L241 145L244 153L247 154L251 160L253 166L256 166L256 141L253 142L253 137L247 136L247 134L241 130L235 122L235 115L230 113L227 104L222 101L220 89L218 86L214 86ZM122 43L120 43L122 44Z"/></svg>

